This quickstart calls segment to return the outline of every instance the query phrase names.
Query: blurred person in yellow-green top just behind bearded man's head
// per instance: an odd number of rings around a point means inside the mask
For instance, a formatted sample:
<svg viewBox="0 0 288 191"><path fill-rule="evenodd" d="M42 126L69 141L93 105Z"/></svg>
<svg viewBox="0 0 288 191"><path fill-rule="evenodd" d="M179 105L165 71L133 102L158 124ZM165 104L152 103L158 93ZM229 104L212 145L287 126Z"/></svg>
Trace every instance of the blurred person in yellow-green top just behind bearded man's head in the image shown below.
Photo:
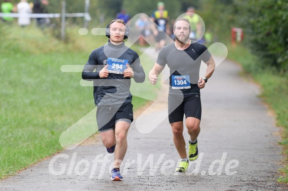
<svg viewBox="0 0 288 191"><path fill-rule="evenodd" d="M191 26L190 40L197 41L202 36L202 25L199 22L200 18L197 14L194 14L195 8L188 7L186 11L186 15L184 18L188 19Z"/></svg>

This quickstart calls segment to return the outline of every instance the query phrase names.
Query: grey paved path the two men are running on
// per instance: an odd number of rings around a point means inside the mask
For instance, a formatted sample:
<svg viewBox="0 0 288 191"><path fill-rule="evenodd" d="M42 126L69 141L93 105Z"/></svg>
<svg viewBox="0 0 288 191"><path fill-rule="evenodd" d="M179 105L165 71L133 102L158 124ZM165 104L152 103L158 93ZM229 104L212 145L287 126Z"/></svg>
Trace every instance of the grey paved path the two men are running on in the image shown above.
<svg viewBox="0 0 288 191"><path fill-rule="evenodd" d="M147 52L155 56L152 49ZM141 119L147 128L157 119L165 120L147 134L140 133L135 122L130 127L123 182L110 181L113 158L98 141L66 150L1 181L0 190L287 190L276 182L283 159L277 145L280 129L257 97L259 87L240 77L241 71L225 60L202 90L200 156L190 162L187 173L174 173L179 156L165 118L164 87L164 97ZM188 139L186 130L184 134Z"/></svg>

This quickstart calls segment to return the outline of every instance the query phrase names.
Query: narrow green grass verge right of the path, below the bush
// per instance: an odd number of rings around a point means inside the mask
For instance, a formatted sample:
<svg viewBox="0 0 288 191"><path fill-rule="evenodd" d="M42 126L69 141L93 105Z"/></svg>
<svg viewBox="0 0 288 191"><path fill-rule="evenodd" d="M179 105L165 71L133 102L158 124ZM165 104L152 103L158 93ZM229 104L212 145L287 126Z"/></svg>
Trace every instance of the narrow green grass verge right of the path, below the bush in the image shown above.
<svg viewBox="0 0 288 191"><path fill-rule="evenodd" d="M264 68L259 59L253 56L242 46L228 48L228 58L240 63L244 70L261 86L260 97L268 103L276 114L277 126L284 127L283 140L285 156L288 155L288 76L280 74L273 68ZM280 169L283 174L278 181L288 183L288 160L285 167Z"/></svg>

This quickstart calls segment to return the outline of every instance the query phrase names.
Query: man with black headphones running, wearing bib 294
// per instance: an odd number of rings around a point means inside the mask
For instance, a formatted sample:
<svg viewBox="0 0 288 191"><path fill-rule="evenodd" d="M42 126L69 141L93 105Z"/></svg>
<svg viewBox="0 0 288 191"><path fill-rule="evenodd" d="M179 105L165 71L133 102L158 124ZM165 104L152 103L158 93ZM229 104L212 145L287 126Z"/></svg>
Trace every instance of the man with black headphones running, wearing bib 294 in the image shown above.
<svg viewBox="0 0 288 191"><path fill-rule="evenodd" d="M108 44L93 50L82 71L82 79L93 81L98 130L108 153L114 153L111 180L123 181L120 166L127 150L127 132L133 121L131 78L145 80L138 54L124 45L129 28L120 19L106 28ZM94 71L95 70L95 71Z"/></svg>

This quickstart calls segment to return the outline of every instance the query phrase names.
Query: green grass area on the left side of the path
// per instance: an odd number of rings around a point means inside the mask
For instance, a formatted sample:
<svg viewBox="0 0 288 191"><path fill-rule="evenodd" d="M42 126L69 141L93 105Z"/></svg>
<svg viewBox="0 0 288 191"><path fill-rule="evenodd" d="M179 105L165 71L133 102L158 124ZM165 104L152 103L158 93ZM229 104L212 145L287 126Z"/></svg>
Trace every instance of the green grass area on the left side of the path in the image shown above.
<svg viewBox="0 0 288 191"><path fill-rule="evenodd" d="M60 67L85 64L107 38L81 36L73 27L67 33L70 43L34 26L0 26L0 180L62 150L61 133L95 108L92 87L79 85L81 73ZM141 62L148 75L154 63ZM153 100L155 87L148 84L136 91ZM146 102L133 97L134 109Z"/></svg>

